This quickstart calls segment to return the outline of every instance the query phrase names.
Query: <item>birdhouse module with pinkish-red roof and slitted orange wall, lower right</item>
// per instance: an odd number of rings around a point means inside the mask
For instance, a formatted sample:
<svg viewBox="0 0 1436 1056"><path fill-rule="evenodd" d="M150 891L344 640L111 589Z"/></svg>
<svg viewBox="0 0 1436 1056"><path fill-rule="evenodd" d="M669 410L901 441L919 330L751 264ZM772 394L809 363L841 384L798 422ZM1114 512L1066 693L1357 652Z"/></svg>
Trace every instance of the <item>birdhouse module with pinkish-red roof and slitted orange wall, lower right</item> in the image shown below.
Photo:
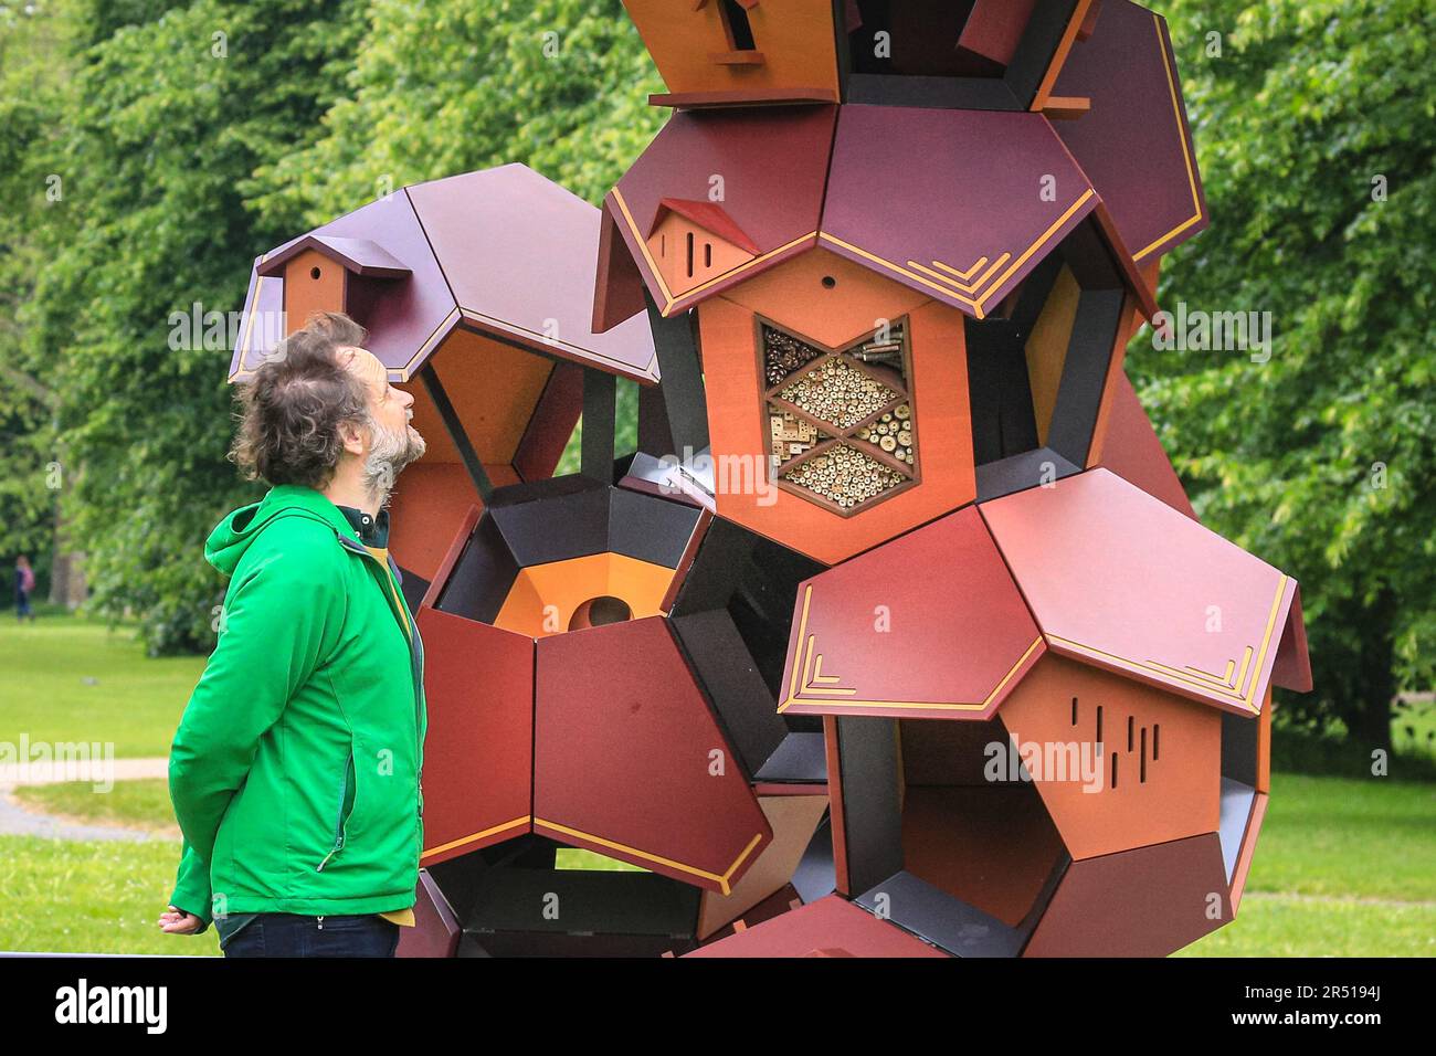
<svg viewBox="0 0 1436 1056"><path fill-rule="evenodd" d="M1310 688L1294 580L1091 470L803 583L778 710L824 717L860 905L959 955L1157 955L1241 898L1274 684Z"/></svg>

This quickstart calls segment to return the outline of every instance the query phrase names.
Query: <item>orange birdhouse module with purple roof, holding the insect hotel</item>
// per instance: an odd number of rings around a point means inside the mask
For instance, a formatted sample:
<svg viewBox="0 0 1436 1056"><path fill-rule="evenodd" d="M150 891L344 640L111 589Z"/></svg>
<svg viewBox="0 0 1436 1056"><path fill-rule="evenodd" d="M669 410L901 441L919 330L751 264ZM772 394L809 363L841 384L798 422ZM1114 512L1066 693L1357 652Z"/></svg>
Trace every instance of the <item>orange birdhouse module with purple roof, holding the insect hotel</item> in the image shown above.
<svg viewBox="0 0 1436 1056"><path fill-rule="evenodd" d="M1037 114L681 112L606 207L599 303L696 318L715 510L824 563L1094 464L1155 310Z"/></svg>

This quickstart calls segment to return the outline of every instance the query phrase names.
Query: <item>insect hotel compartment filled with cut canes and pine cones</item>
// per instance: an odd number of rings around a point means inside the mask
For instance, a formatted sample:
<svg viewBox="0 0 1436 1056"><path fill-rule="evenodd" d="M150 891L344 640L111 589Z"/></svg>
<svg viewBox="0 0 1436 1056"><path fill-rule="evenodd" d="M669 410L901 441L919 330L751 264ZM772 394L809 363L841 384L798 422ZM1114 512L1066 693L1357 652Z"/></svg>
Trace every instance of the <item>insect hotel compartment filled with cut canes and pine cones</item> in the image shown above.
<svg viewBox="0 0 1436 1056"><path fill-rule="evenodd" d="M906 319L843 349L758 326L780 487L849 516L916 481Z"/></svg>

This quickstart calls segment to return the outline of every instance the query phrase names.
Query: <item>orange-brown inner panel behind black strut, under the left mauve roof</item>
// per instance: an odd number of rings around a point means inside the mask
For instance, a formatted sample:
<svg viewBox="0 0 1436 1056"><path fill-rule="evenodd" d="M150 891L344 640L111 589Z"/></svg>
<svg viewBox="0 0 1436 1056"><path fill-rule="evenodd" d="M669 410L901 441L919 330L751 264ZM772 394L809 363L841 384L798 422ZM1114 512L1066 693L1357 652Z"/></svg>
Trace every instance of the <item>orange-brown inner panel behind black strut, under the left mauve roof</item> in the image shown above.
<svg viewBox="0 0 1436 1056"><path fill-rule="evenodd" d="M454 330L429 362L478 460L485 466L513 463L553 371L553 361L470 330ZM414 427L429 444L426 457L460 461L458 448L449 440L424 381L414 379L405 388L414 394Z"/></svg>

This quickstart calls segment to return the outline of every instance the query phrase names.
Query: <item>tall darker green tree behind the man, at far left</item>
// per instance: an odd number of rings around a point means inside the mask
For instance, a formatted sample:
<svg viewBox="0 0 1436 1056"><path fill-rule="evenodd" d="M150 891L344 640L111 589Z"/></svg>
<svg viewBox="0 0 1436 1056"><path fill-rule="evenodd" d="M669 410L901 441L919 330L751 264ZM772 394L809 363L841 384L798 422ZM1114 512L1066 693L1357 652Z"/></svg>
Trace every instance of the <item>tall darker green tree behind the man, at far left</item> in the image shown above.
<svg viewBox="0 0 1436 1056"><path fill-rule="evenodd" d="M171 315L237 309L253 256L299 223L247 210L240 185L317 138L360 13L349 0L73 11L76 33L99 39L45 144L63 191L32 216L46 263L19 316L30 355L53 362L62 501L92 599L141 615L157 652L213 642L223 583L201 546L254 494L224 460L228 351L172 341Z"/></svg>

